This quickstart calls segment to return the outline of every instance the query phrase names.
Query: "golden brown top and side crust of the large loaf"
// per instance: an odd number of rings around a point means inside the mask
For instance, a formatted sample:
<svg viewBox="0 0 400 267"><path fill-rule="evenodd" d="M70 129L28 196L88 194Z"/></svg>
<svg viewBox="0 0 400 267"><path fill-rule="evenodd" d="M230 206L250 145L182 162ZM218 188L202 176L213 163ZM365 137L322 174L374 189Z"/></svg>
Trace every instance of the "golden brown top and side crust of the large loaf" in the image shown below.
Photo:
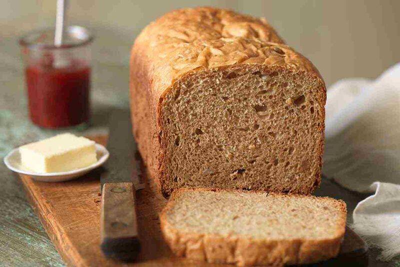
<svg viewBox="0 0 400 267"><path fill-rule="evenodd" d="M165 14L141 32L131 50L130 106L133 133L152 177L162 180L163 96L186 75L247 64L306 73L325 90L316 68L286 46L263 19L215 8L182 9ZM322 149L323 144L321 155ZM314 187L319 185L317 176Z"/></svg>

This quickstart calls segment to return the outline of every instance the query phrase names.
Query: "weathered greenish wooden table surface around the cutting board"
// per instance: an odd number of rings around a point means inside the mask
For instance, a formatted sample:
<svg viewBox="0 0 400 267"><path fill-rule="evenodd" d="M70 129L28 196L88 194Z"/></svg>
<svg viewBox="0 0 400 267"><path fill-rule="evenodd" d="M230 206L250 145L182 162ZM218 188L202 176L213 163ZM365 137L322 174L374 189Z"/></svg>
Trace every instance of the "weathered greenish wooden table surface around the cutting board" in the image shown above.
<svg viewBox="0 0 400 267"><path fill-rule="evenodd" d="M104 53L109 53L107 56L111 57L113 51ZM14 147L57 133L42 130L29 122L23 69L19 57L15 39L0 40L1 159ZM110 108L128 106L127 66L95 62L94 69L91 96L92 126L88 131L78 132L79 135L106 130ZM343 199L347 203L348 221L351 221L356 203L366 197L343 189L327 179L323 179L316 194ZM377 251L371 249L371 266L400 265L395 261L376 261L376 256ZM0 163L0 266L9 265L63 266L64 263L28 204L19 178Z"/></svg>

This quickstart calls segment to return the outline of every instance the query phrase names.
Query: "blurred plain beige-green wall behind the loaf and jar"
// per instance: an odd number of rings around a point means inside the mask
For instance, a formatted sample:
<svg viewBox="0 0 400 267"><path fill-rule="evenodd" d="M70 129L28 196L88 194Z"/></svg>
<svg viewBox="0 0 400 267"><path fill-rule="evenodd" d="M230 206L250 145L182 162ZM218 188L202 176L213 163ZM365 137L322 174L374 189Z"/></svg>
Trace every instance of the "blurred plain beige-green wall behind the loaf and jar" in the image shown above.
<svg viewBox="0 0 400 267"><path fill-rule="evenodd" d="M95 33L95 61L127 66L130 46L145 25L170 10L195 6L265 17L289 46L316 65L327 85L346 77L375 78L400 61L398 0L70 0L67 18ZM55 0L0 0L0 45L14 57L17 37L53 26L54 14Z"/></svg>

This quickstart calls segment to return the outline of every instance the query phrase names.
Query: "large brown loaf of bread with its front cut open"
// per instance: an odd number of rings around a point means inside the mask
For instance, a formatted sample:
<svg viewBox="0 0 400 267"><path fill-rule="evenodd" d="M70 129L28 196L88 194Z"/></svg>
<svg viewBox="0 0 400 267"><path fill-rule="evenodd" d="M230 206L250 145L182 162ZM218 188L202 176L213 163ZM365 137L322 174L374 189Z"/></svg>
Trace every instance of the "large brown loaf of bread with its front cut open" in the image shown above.
<svg viewBox="0 0 400 267"><path fill-rule="evenodd" d="M166 197L179 187L311 193L325 99L315 67L264 19L172 11L131 50L133 134Z"/></svg>

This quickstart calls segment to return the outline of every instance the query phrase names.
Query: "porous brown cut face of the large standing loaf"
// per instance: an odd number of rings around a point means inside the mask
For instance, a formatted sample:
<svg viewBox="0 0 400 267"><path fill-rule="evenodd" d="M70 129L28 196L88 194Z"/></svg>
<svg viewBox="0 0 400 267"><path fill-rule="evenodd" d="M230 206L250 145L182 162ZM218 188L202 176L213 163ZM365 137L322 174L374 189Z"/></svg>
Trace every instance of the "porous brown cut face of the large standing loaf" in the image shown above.
<svg viewBox="0 0 400 267"><path fill-rule="evenodd" d="M319 183L320 87L313 77L258 65L182 77L160 109L162 190L309 193Z"/></svg>

